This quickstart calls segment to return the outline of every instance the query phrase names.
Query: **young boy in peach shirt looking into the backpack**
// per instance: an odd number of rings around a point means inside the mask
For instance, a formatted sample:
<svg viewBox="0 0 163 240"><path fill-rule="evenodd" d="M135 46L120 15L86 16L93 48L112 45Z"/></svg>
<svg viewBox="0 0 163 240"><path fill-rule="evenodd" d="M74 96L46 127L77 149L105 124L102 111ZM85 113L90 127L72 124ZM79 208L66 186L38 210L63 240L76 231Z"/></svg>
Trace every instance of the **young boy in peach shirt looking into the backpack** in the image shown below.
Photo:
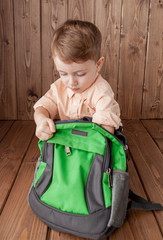
<svg viewBox="0 0 163 240"><path fill-rule="evenodd" d="M89 116L114 133L122 125L120 110L109 83L99 74L104 62L99 29L90 22L68 20L55 31L51 47L60 78L34 105L36 136L51 138L58 115L61 120Z"/></svg>

